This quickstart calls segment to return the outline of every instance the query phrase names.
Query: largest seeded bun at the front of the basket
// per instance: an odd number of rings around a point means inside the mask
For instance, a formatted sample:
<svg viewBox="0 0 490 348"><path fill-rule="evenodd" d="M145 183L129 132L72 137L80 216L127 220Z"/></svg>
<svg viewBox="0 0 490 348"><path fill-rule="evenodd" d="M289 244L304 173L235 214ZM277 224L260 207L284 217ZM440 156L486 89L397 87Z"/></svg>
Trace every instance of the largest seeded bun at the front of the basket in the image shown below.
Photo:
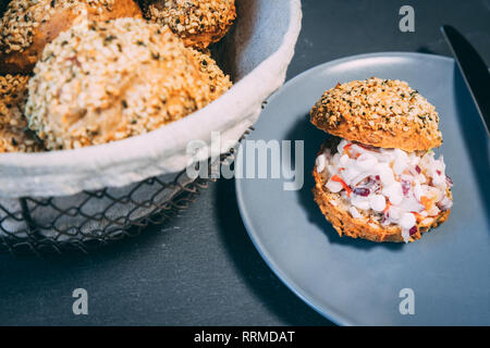
<svg viewBox="0 0 490 348"><path fill-rule="evenodd" d="M50 150L157 129L212 100L194 55L143 20L85 22L46 46L29 82L29 127Z"/></svg>

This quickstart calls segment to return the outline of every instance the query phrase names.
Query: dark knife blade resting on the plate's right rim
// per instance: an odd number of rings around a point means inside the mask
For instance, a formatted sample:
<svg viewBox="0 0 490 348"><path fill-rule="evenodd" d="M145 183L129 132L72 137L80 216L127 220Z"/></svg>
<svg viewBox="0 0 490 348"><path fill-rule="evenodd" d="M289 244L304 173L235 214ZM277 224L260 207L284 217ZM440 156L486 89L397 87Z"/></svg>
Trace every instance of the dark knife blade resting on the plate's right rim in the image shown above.
<svg viewBox="0 0 490 348"><path fill-rule="evenodd" d="M456 60L478 113L490 135L490 72L477 50L451 25L441 26L442 35Z"/></svg>

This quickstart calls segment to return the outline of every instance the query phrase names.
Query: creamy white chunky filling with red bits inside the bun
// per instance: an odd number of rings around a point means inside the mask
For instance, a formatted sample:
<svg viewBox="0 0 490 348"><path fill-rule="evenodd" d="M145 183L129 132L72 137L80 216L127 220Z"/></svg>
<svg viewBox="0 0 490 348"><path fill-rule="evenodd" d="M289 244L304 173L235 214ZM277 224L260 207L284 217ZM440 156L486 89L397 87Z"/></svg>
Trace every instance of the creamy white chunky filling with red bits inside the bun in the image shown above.
<svg viewBox="0 0 490 348"><path fill-rule="evenodd" d="M431 150L408 153L345 139L336 150L317 157L317 172L326 175L326 187L341 195L355 219L399 225L408 241L453 204L443 158L436 159Z"/></svg>

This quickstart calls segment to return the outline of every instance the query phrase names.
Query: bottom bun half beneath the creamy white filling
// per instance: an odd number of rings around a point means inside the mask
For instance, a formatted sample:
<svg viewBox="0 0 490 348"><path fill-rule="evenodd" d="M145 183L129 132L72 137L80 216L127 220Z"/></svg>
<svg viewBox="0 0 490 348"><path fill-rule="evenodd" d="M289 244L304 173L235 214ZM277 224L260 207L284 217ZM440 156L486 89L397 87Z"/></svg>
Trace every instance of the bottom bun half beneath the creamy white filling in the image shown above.
<svg viewBox="0 0 490 348"><path fill-rule="evenodd" d="M336 152L336 140L329 139L323 144L318 156L323 153L326 148L332 149L332 153ZM315 202L321 210L324 217L332 224L333 228L339 233L339 236L347 236L351 238L363 238L371 241L395 241L403 243L402 228L396 225L382 226L379 222L369 220L369 216L363 219L354 219L348 212L348 207L342 204L342 197L340 194L331 192L324 185L326 178L317 173L317 166L315 165L313 171L315 178L315 187L313 188L313 195ZM336 202L334 206L333 202ZM451 210L441 211L438 216L434 217L433 223L430 226L422 226L417 224L418 232L413 234L409 241L414 241L421 238L421 235L428 232L432 227L437 227L448 220Z"/></svg>

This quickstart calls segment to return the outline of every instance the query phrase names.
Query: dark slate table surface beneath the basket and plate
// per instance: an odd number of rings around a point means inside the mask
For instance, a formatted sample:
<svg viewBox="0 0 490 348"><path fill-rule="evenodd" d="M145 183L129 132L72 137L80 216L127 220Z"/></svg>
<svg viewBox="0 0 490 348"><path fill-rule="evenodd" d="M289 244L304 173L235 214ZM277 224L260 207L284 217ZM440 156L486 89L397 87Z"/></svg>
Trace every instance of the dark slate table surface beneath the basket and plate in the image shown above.
<svg viewBox="0 0 490 348"><path fill-rule="evenodd" d="M415 9L415 33L399 30L404 4ZM490 63L490 0L303 0L303 12L287 78L357 53L450 55L442 24L461 29ZM75 288L88 291L88 315L72 312ZM0 324L331 323L272 274L243 226L234 182L220 179L173 221L89 256L0 256Z"/></svg>

